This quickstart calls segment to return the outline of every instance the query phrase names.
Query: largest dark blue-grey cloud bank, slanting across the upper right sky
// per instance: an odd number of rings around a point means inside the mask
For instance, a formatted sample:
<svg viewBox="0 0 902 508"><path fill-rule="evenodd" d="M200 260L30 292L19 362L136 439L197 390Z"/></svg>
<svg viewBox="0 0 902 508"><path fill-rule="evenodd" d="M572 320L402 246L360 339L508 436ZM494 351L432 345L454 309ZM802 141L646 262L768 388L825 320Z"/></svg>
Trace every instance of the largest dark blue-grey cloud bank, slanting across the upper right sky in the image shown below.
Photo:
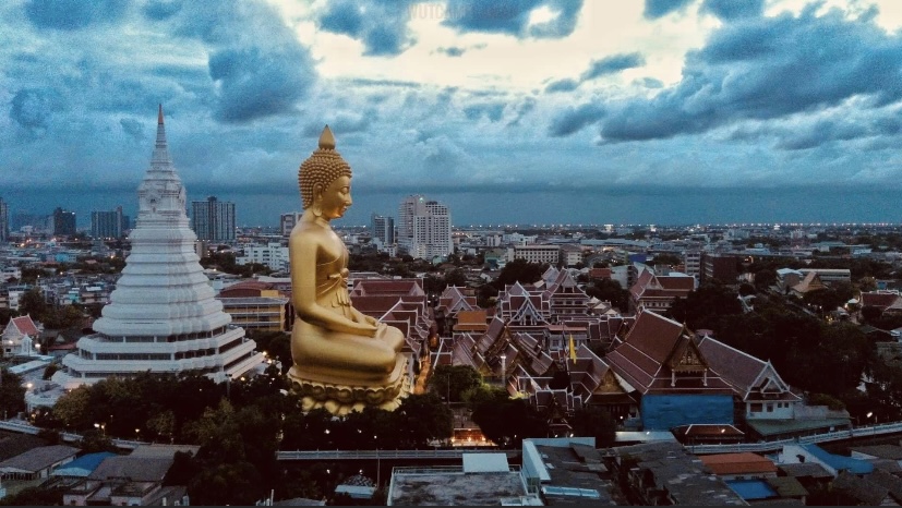
<svg viewBox="0 0 902 508"><path fill-rule="evenodd" d="M839 11L726 24L686 57L682 82L651 99L606 105L606 142L668 138L732 122L814 113L853 97L902 97L902 40ZM554 129L552 130L554 132Z"/></svg>

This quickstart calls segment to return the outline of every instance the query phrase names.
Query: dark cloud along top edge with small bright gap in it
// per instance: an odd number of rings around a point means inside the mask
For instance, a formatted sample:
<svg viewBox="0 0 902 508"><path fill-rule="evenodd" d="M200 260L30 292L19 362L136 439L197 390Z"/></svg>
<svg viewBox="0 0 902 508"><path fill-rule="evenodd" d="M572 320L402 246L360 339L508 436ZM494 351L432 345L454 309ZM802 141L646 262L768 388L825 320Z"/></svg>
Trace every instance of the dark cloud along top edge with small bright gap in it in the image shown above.
<svg viewBox="0 0 902 508"><path fill-rule="evenodd" d="M412 5L411 15L429 4ZM551 21L529 24L529 14L541 7L556 15ZM507 34L516 37L560 38L570 35L576 27L582 0L448 0L443 11L445 25L459 32Z"/></svg>

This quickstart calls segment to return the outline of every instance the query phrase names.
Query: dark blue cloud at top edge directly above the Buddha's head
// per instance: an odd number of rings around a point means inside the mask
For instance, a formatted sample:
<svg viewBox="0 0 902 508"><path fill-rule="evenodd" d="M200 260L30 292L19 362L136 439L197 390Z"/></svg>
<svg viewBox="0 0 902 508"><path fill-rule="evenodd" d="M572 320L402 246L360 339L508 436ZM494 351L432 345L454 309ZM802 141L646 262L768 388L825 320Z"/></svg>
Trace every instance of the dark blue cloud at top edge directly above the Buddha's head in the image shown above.
<svg viewBox="0 0 902 508"><path fill-rule="evenodd" d="M338 0L320 16L320 27L359 39L365 48L364 55L399 55L414 41L407 27L409 3L408 0Z"/></svg>

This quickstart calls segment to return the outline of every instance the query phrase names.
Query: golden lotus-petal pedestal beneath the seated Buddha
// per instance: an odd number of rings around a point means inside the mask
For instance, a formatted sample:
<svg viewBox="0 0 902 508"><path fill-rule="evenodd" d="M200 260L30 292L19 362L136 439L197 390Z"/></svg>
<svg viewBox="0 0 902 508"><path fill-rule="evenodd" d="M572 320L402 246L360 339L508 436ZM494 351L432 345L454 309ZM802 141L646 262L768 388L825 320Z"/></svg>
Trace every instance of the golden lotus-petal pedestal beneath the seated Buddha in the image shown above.
<svg viewBox="0 0 902 508"><path fill-rule="evenodd" d="M402 354L397 355L392 374L375 383L342 379L334 374L317 375L298 365L288 371L288 378L293 382L294 389L301 395L303 411L325 408L337 415L363 411L366 407L393 411L410 394L407 358Z"/></svg>

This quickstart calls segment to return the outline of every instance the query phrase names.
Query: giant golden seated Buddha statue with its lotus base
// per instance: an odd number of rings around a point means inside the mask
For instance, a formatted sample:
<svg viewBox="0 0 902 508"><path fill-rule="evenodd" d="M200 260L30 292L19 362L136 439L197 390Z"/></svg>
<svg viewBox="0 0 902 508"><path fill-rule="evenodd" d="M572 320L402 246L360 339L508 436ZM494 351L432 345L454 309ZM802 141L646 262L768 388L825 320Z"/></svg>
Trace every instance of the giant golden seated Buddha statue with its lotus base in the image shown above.
<svg viewBox="0 0 902 508"><path fill-rule="evenodd" d="M351 168L335 150L328 125L320 148L301 164L298 180L303 215L288 243L294 365L288 376L303 397L303 409L334 414L366 406L395 409L407 395L404 335L351 305L348 250L329 221L351 206Z"/></svg>

